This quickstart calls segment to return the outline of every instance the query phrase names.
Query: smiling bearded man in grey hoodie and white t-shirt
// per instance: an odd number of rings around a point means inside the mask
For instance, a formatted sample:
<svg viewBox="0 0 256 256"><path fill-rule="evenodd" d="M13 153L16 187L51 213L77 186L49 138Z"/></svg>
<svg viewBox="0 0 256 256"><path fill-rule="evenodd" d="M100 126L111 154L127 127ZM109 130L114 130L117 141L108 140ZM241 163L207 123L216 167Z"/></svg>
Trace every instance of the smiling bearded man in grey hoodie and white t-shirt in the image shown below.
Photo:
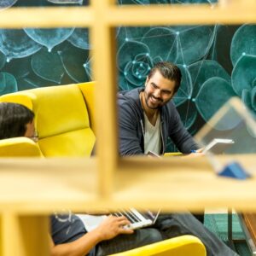
<svg viewBox="0 0 256 256"><path fill-rule="evenodd" d="M120 155L164 154L168 137L183 154L198 149L171 101L181 78L176 65L159 62L148 73L144 88L119 92Z"/></svg>

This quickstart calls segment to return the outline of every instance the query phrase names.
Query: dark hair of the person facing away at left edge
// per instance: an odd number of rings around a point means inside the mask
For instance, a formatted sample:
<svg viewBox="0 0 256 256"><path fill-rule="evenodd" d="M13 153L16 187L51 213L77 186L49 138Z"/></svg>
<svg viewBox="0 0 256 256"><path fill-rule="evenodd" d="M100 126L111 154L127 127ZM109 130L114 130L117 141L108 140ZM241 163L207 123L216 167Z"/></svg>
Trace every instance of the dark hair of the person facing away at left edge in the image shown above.
<svg viewBox="0 0 256 256"><path fill-rule="evenodd" d="M0 139L22 137L26 125L34 119L34 113L23 105L0 102Z"/></svg>

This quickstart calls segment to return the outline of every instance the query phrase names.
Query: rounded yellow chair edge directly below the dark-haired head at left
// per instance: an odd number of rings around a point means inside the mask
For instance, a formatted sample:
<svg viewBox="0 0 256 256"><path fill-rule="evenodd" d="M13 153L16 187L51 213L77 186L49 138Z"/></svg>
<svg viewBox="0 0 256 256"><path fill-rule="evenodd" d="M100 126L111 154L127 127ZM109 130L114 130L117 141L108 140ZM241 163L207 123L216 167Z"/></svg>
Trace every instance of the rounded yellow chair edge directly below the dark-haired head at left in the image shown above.
<svg viewBox="0 0 256 256"><path fill-rule="evenodd" d="M27 137L0 140L0 155L2 157L42 156L37 143Z"/></svg>

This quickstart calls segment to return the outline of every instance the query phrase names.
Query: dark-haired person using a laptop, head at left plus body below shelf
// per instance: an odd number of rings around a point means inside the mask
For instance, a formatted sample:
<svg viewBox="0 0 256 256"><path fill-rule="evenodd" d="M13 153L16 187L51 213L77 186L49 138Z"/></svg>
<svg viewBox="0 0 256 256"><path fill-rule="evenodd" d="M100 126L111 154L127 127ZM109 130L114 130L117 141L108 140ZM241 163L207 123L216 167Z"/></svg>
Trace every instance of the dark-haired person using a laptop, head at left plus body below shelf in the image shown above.
<svg viewBox="0 0 256 256"><path fill-rule="evenodd" d="M16 103L0 103L0 138L29 137L34 139L34 113ZM60 218L61 216L61 218ZM205 245L208 256L236 256L223 241L212 234L192 214L160 214L155 224L131 230L125 217L108 215L95 230L87 232L82 220L69 212L50 216L50 254L52 256L103 256L163 241L168 238L192 235Z"/></svg>

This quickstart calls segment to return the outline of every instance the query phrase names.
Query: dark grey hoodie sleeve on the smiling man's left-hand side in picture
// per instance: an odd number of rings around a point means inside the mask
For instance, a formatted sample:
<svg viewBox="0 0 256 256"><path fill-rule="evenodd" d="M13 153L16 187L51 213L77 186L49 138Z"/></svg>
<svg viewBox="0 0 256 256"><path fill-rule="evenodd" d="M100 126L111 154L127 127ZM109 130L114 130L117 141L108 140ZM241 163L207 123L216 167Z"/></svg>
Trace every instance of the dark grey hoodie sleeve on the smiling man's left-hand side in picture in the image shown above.
<svg viewBox="0 0 256 256"><path fill-rule="evenodd" d="M131 106L123 102L119 104L119 154L143 154L141 144L140 120Z"/></svg>

